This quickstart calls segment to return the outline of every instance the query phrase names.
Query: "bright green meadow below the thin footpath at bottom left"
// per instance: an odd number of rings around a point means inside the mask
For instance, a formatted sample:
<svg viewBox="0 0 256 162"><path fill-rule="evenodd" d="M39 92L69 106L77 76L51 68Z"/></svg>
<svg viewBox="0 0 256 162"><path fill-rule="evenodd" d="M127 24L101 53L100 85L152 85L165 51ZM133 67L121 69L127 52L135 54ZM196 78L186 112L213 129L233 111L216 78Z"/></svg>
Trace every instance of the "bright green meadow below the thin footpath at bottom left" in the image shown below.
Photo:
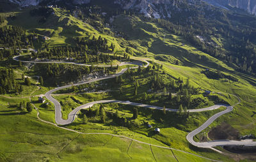
<svg viewBox="0 0 256 162"><path fill-rule="evenodd" d="M79 135L56 128L38 121L36 110L22 114L16 108L0 105L0 111L0 121L5 123L0 126L0 161L154 161L148 145L131 144L130 140L108 135ZM129 145L130 152L127 154ZM153 149L157 159L175 160L170 150ZM193 155L174 152L180 159L205 161Z"/></svg>

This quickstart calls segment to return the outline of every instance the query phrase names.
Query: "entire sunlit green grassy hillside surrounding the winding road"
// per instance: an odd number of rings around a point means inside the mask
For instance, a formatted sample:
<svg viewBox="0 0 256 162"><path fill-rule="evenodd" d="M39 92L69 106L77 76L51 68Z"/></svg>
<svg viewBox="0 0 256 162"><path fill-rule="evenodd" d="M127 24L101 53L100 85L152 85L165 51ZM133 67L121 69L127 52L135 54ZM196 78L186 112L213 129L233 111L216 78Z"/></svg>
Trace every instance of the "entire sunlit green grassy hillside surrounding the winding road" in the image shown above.
<svg viewBox="0 0 256 162"><path fill-rule="evenodd" d="M72 16L69 11L60 8L53 8L52 14L42 23L39 22L42 17L31 16L29 13L31 9L33 8L13 11L16 18L8 18L2 25L22 26L28 34L36 33L38 36L49 37L50 40L39 40L34 43L35 48L38 50L44 50L45 46L49 48L63 45L76 46L74 38L77 37L87 39L93 36L96 38L101 36L106 38L109 45L111 43L115 45L116 54L123 55L125 53L131 55L132 59L148 60L150 61L150 66L160 67L163 65L163 68L160 68L160 70L156 68L152 71L156 71L158 75L163 77L165 85L170 84L172 79L177 82L178 78L182 78L184 81L189 78L191 86L201 87L213 92L222 92L223 96L219 96L230 103L230 105L237 103L237 98L225 93L235 94L241 98L241 104L234 107L233 112L221 116L202 133L202 136L206 136L207 140L211 140L207 137L208 131L222 122L227 122L236 128L241 136L251 133L256 134L256 116L253 115L256 107L256 78L236 71L234 64L220 61L205 54L185 41L182 36L170 33L156 23L149 22L141 17L118 15L115 17L111 27L104 27L104 30L101 31L97 27L92 26L93 23L99 23L104 26L99 20L88 18L88 22L84 22ZM12 13L2 14L10 15ZM221 38L212 38L212 41L219 46L223 45ZM25 73L30 77L36 74L39 75L40 71L33 71L33 68L19 68L17 63L10 61L11 59L1 61L0 66L4 68L9 66L9 64L15 64L17 82L22 82L19 79L21 78L21 73ZM28 64L26 66L29 67ZM68 67L71 67L70 69L72 70L74 69L74 66ZM45 66L45 69L42 69L42 71L46 71L46 69ZM209 77L209 75L207 76L204 73L206 69L217 74L220 72L225 77ZM170 101L168 96L163 94L163 89L153 91L152 93L148 92L153 77L150 72L146 73L143 71L143 73L138 74L138 70L133 70L131 73L133 75L136 74L134 78L140 84L138 95L133 93L135 80L132 80L127 74L124 75L122 84L117 84L113 79L89 85L89 89L94 89L95 85L99 85L97 91L110 89L111 92L77 95L78 90L72 92L68 90L69 94L54 95L56 99L64 103L62 106L63 118L67 118L67 114L72 108L76 108L81 103L84 104L99 99L129 99L131 101L134 99L134 101L141 103L157 106L166 105L166 108L179 107L175 103L175 99ZM228 78L231 77L237 80L229 80ZM45 82L48 83L45 86L52 85L52 80L45 79ZM38 121L36 110L33 110L31 113L21 112L17 109L17 105L23 100L29 101L30 96L34 96L31 98L31 101L38 108L40 118L54 123L53 105L45 106L44 104L36 103L38 98L35 96L44 94L49 89L52 89L52 87L40 86L41 89L37 89L39 84L36 83L36 80L32 80L32 84L31 87L24 85L25 91L22 93L0 96L0 121L1 123L6 123L0 125L2 132L0 134L0 161L15 161L15 159L18 161L28 161L28 159L33 159L32 161L42 159L43 161L80 161L81 159L87 159L88 161L175 161L175 157L179 161L206 160L186 152L170 151L168 149L139 144L116 136L77 134ZM63 84L67 84L67 80L63 81ZM122 95L120 95L120 87L124 91ZM174 95L177 93L176 89L167 88L167 91L173 93L173 97L176 98ZM148 92L150 99L142 101L140 98L143 98L145 92ZM197 97L204 98L204 95L200 92L192 96L192 98ZM81 101L81 103L77 103L77 100ZM214 103L209 99L207 104L199 105L196 108L207 107ZM99 105L95 107L99 107ZM124 117L127 118L131 118L132 109L134 108L117 104L104 105L104 107L106 107L106 111L110 114L113 114L115 110L120 110L120 114L124 114ZM130 138L150 144L192 152L207 158L230 161L232 159L229 159L228 156L195 148L186 141L186 135L189 131L200 126L211 115L220 110L195 113L186 121L181 122L177 114L170 113L164 116L161 112L153 113L145 108L139 108L139 118L132 122L142 123L143 121L149 121L154 126L161 128L159 135L152 135L152 129L147 129L145 126L126 128L125 126L116 125L111 119L106 124L102 124L97 120L93 121L94 119L89 119L91 121L88 124L82 124L82 119L79 117L67 128L76 129L84 133L115 133L116 135L129 136ZM197 138L199 137L197 136Z"/></svg>

